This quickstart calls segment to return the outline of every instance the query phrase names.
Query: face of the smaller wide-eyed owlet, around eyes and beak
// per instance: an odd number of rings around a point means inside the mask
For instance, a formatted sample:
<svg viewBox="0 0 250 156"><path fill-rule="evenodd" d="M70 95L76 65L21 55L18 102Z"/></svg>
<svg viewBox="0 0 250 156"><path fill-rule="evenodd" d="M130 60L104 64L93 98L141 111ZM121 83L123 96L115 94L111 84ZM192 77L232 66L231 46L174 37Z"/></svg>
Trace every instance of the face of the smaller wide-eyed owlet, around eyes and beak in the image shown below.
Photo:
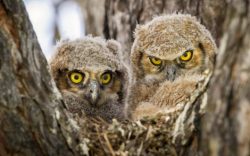
<svg viewBox="0 0 250 156"><path fill-rule="evenodd" d="M65 74L66 83L61 83L65 85L59 85L60 89L74 93L77 98L81 98L91 107L104 106L111 102L111 99L118 99L120 96L118 93L122 85L116 72L105 69L99 71L85 69L67 70Z"/></svg>

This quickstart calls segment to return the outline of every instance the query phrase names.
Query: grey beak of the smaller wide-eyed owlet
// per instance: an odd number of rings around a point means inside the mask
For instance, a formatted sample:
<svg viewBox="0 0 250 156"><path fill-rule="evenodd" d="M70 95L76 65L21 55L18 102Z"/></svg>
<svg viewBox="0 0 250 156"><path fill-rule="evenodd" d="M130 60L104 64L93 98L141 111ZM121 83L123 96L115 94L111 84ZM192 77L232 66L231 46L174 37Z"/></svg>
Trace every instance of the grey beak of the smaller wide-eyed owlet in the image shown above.
<svg viewBox="0 0 250 156"><path fill-rule="evenodd" d="M96 104L99 98L99 84L97 81L90 81L88 97L91 104Z"/></svg>

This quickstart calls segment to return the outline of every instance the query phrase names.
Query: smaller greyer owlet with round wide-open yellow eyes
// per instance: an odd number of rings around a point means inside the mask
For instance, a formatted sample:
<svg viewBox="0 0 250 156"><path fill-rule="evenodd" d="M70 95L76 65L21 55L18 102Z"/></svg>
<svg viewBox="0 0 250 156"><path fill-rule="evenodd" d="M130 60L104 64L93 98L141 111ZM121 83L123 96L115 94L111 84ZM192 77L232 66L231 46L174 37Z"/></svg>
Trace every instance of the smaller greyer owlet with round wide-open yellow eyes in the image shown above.
<svg viewBox="0 0 250 156"><path fill-rule="evenodd" d="M120 61L120 44L87 36L58 44L50 67L70 112L124 119L128 72Z"/></svg>

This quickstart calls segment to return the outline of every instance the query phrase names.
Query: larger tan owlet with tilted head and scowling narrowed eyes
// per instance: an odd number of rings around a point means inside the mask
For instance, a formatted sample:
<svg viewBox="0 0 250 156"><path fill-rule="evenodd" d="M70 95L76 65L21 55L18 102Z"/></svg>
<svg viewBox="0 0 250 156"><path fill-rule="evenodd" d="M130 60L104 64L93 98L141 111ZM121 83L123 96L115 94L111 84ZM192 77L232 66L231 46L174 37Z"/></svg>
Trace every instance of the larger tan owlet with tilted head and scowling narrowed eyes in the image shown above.
<svg viewBox="0 0 250 156"><path fill-rule="evenodd" d="M174 135L186 135L181 133L193 129L192 117L205 102L216 51L209 31L190 15L160 16L137 26L129 116L136 120L165 113L174 118Z"/></svg>

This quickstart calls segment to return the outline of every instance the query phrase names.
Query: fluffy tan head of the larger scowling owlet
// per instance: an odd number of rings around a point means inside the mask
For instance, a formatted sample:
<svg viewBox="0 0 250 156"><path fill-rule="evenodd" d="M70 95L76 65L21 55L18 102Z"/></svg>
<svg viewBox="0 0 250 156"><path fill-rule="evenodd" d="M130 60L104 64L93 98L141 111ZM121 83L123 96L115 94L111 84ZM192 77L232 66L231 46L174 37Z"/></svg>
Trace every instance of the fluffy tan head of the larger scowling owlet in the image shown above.
<svg viewBox="0 0 250 156"><path fill-rule="evenodd" d="M211 73L215 52L209 31L194 17L166 15L137 27L131 62L135 77L147 83L175 81Z"/></svg>

